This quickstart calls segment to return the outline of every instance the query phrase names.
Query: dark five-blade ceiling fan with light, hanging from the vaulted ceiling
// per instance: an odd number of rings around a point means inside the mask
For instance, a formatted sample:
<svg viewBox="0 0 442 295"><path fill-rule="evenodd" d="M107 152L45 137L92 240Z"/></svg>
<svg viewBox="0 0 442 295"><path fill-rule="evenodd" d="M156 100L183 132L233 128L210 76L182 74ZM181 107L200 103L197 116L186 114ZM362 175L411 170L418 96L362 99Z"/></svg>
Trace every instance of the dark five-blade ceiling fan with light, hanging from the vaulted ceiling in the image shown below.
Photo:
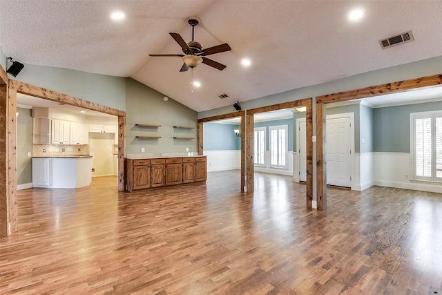
<svg viewBox="0 0 442 295"><path fill-rule="evenodd" d="M184 64L181 67L180 72L186 72L189 68L195 68L199 64L203 63L207 66L212 66L213 68L218 68L218 70L224 70L226 66L220 64L218 61L208 59L207 55L214 55L215 53L224 53L224 51L231 50L229 44L224 43L218 46L213 46L209 48L202 48L201 44L193 40L195 33L195 26L200 23L198 19L189 19L187 21L189 25L192 26L192 41L184 41L180 34L176 32L169 32L169 35L179 44L182 48L184 55L149 55L151 57L181 57Z"/></svg>

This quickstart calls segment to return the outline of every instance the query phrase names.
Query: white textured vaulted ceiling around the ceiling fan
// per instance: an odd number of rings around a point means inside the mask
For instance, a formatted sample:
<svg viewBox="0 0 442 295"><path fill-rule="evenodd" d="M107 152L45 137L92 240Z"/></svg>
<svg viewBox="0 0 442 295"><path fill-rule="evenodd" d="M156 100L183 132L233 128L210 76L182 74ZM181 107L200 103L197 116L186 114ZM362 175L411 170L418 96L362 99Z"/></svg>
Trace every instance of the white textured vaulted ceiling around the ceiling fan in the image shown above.
<svg viewBox="0 0 442 295"><path fill-rule="evenodd" d="M361 8L365 15L349 21ZM126 14L112 21L111 12ZM442 1L4 1L0 46L25 64L133 77L195 111L441 55ZM180 73L169 32L232 50ZM379 39L412 30L414 41L381 49ZM249 68L240 65L251 59ZM26 69L26 68L25 68ZM226 93L226 99L218 95Z"/></svg>

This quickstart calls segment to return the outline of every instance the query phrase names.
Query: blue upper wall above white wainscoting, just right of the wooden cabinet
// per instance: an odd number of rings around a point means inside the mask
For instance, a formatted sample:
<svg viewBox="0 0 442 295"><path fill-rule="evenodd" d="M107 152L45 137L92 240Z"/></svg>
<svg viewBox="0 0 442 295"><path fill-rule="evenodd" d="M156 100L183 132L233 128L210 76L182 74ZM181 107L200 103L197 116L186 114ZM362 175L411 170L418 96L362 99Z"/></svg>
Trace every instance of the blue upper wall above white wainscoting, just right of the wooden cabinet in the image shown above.
<svg viewBox="0 0 442 295"><path fill-rule="evenodd" d="M204 151L231 151L241 149L241 137L235 135L238 125L221 123L204 123Z"/></svg>

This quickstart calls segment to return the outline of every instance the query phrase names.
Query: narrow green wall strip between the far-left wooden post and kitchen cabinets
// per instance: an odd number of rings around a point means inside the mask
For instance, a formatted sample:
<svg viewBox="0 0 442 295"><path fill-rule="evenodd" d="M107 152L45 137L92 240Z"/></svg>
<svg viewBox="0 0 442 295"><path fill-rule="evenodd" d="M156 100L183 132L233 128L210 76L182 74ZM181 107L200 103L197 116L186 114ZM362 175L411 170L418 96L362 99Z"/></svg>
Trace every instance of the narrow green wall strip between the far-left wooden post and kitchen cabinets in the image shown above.
<svg viewBox="0 0 442 295"><path fill-rule="evenodd" d="M28 108L17 108L17 185L32 182L32 115Z"/></svg>

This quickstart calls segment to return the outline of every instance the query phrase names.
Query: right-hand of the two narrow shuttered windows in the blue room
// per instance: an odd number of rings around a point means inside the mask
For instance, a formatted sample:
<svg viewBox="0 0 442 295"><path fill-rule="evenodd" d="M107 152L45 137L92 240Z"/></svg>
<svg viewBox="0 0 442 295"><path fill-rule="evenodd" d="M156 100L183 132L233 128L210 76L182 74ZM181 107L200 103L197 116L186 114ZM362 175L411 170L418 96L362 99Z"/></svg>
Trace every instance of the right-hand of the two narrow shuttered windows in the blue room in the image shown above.
<svg viewBox="0 0 442 295"><path fill-rule="evenodd" d="M270 166L276 168L287 168L288 153L288 126L270 126Z"/></svg>

